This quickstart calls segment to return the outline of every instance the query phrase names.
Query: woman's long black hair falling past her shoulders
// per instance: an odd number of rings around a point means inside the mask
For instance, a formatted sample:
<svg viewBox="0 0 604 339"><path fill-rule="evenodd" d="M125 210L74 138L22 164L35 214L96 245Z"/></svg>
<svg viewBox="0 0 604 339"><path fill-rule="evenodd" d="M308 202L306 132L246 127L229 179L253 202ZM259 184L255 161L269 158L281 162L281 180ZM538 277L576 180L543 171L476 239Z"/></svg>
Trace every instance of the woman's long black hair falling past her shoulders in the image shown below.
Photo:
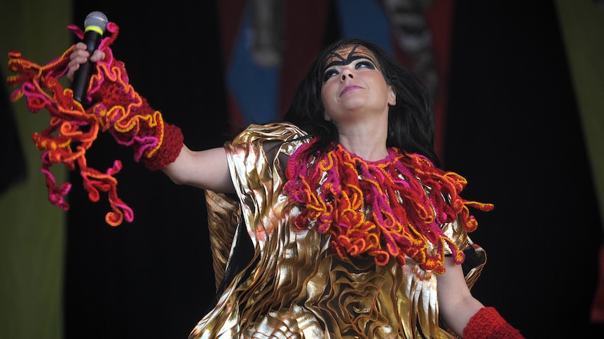
<svg viewBox="0 0 604 339"><path fill-rule="evenodd" d="M434 113L432 98L423 82L402 66L389 52L375 43L357 38L342 39L332 43L317 56L291 100L284 121L296 124L308 134L319 137L313 152L324 152L339 134L336 125L324 118L321 99L324 64L331 52L345 45L362 45L376 56L386 83L394 88L397 104L388 112L387 147L397 147L402 152L422 154L435 166L440 161L434 152Z"/></svg>

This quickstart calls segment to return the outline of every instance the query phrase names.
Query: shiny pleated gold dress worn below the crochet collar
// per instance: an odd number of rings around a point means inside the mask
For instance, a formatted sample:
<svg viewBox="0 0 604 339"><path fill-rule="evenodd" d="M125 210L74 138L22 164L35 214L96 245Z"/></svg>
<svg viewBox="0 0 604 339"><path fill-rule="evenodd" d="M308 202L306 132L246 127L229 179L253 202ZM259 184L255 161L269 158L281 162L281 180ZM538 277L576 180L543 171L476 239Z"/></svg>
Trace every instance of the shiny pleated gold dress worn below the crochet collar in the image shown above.
<svg viewBox="0 0 604 339"><path fill-rule="evenodd" d="M455 338L439 327L435 273L409 257L404 266L394 260L377 266L369 257L342 260L327 236L289 225L300 211L282 194L282 156L307 142L304 135L289 124L252 125L226 143L239 201L207 192L217 286L240 217L254 260L189 338ZM472 245L457 222L443 229L460 248ZM483 264L467 275L470 286Z"/></svg>

